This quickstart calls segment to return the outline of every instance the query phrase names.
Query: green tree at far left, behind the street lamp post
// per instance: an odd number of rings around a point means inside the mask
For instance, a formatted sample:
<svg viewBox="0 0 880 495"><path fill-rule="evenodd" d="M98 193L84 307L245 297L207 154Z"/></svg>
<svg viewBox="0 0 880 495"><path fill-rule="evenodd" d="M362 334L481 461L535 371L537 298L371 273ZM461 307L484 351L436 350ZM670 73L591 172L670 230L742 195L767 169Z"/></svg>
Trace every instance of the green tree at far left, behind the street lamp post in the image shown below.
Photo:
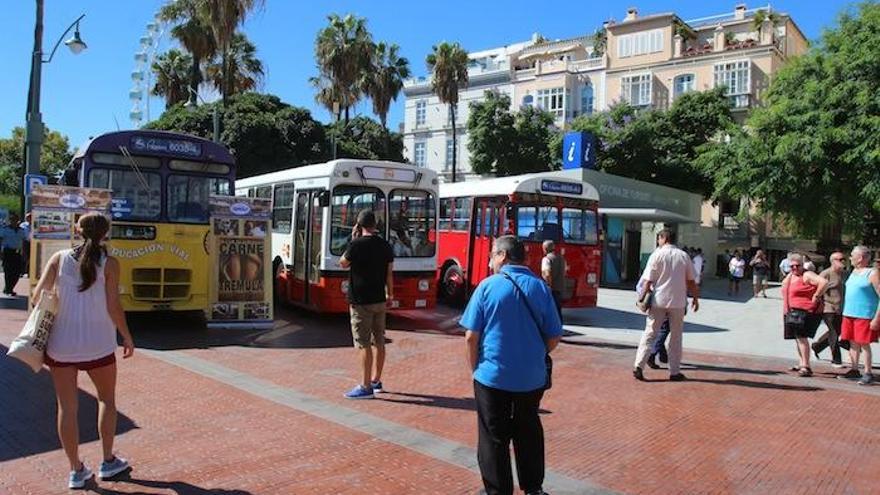
<svg viewBox="0 0 880 495"><path fill-rule="evenodd" d="M12 129L9 138L0 139L0 195L21 195L24 167L24 128ZM40 173L54 176L61 173L73 158L67 136L48 127L43 136Z"/></svg>

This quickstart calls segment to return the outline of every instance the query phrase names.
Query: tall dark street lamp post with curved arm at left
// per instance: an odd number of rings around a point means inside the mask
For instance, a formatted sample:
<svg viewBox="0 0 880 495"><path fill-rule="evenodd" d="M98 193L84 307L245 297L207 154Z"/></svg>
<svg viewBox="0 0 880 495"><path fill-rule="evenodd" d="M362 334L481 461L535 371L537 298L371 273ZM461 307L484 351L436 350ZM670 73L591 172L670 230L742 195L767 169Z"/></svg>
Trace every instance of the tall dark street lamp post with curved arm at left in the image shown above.
<svg viewBox="0 0 880 495"><path fill-rule="evenodd" d="M31 81L30 90L28 91L27 124L25 125L24 130L25 143L27 144L25 149L26 174L40 173L40 151L43 146L44 133L43 116L40 113L40 83L42 79L43 64L48 64L52 61L52 57L55 56L55 51L61 44L61 40L63 40L67 33L69 33L74 27L76 27L76 32L73 37L65 41L64 44L70 48L70 51L73 52L74 55L77 55L86 49L86 44L79 36L79 21L85 17L85 14L83 14L77 17L77 19L73 21L63 33L61 33L61 36L52 48L52 52L49 54L49 58L43 59L43 0L36 0L36 3L37 18L34 25L34 53L31 60ZM22 194L24 194L24 190L22 190ZM31 210L31 200L27 196L24 198L24 209L25 212Z"/></svg>

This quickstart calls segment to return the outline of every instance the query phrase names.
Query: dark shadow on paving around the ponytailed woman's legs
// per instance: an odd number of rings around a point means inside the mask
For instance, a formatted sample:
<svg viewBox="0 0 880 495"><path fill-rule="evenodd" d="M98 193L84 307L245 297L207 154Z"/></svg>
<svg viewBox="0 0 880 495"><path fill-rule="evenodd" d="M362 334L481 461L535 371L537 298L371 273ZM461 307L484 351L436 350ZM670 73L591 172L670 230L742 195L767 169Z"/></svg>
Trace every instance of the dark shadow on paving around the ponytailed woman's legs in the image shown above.
<svg viewBox="0 0 880 495"><path fill-rule="evenodd" d="M49 371L33 373L18 360L7 357L6 351L7 347L0 345L0 462L60 449L55 426L55 388ZM79 379L89 380L84 372ZM131 418L121 412L118 415L117 435L137 428ZM82 390L78 416L80 443L98 440L98 401Z"/></svg>

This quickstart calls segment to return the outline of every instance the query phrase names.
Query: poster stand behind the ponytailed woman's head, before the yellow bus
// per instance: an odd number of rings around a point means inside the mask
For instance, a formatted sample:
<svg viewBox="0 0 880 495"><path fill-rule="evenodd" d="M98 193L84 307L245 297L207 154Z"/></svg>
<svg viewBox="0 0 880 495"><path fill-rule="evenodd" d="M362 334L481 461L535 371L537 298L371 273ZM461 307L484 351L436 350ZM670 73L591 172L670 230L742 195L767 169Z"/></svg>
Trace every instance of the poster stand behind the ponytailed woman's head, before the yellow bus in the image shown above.
<svg viewBox="0 0 880 495"><path fill-rule="evenodd" d="M58 251L79 244L76 223L79 217L97 212L112 221L112 191L86 187L35 185L31 191L31 290L40 281L43 267Z"/></svg>

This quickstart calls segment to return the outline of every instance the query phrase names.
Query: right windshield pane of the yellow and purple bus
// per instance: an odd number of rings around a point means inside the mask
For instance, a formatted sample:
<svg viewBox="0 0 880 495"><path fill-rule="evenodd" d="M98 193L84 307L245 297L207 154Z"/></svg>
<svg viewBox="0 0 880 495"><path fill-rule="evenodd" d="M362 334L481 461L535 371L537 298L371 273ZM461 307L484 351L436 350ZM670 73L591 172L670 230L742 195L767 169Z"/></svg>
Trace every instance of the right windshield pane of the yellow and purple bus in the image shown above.
<svg viewBox="0 0 880 495"><path fill-rule="evenodd" d="M229 195L229 179L170 175L168 177L168 220L180 223L208 223L208 196Z"/></svg>

